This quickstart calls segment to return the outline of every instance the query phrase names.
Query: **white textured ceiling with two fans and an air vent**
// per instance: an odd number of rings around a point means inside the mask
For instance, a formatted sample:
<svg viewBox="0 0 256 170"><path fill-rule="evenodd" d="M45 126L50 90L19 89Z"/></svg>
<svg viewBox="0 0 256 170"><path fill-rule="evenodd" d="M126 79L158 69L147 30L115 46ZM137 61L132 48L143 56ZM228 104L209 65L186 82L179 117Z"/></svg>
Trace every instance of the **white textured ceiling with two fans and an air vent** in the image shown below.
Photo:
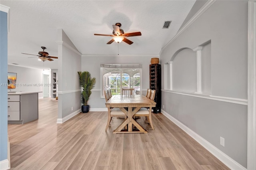
<svg viewBox="0 0 256 170"><path fill-rule="evenodd" d="M122 54L159 54L178 32L195 0L1 0L10 7L8 33L8 64L42 68L37 57L45 46L52 56L58 56L57 29L62 28L82 54L110 55L118 53L118 44L106 44L116 22L125 33L141 32L142 36L128 37L134 42L119 43ZM162 29L171 20L169 29ZM58 59L45 61L45 69L58 68Z"/></svg>

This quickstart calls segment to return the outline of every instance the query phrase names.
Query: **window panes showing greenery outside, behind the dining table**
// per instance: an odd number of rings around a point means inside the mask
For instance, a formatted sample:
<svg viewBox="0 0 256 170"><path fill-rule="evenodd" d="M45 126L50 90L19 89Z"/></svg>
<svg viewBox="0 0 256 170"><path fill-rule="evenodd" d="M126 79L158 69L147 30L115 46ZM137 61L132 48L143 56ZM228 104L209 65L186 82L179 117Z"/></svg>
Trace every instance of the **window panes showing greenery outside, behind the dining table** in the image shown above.
<svg viewBox="0 0 256 170"><path fill-rule="evenodd" d="M103 82L103 89L110 88L112 95L120 95L122 88L134 88L135 91L140 91L140 69L120 69L106 73L103 75Z"/></svg>

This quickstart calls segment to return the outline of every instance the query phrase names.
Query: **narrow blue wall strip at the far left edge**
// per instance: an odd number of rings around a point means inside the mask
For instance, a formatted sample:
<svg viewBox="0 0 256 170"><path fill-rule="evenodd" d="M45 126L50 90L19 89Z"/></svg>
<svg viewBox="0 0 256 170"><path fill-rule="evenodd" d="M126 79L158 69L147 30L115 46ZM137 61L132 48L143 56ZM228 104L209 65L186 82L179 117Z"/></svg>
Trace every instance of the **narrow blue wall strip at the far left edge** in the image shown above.
<svg viewBox="0 0 256 170"><path fill-rule="evenodd" d="M7 78L7 13L0 11L0 83ZM7 86L0 86L0 161L7 159Z"/></svg>

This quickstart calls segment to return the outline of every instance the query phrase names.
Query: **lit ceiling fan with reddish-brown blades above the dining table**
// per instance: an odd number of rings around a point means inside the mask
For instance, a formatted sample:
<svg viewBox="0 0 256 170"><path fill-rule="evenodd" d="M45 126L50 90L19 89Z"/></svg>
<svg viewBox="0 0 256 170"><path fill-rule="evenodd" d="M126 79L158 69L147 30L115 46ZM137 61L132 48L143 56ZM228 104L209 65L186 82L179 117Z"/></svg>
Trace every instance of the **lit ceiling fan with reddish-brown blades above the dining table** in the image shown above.
<svg viewBox="0 0 256 170"><path fill-rule="evenodd" d="M124 30L120 29L121 23L116 23L116 25L112 25L114 30L113 30L113 35L106 35L106 34L94 34L95 36L110 36L113 37L112 40L110 40L107 44L111 44L112 42L117 42L120 43L122 41L132 44L133 42L128 40L126 37L134 37L134 36L141 36L141 32L131 32L131 33L126 33L124 34Z"/></svg>

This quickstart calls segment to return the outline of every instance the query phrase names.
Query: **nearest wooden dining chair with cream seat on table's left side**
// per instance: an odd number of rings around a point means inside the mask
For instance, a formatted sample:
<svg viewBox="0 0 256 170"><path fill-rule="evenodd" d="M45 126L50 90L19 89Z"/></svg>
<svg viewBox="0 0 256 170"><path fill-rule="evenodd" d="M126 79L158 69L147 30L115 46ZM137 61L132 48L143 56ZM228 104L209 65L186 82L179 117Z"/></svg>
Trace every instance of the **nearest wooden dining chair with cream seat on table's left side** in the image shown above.
<svg viewBox="0 0 256 170"><path fill-rule="evenodd" d="M109 91L105 90L104 95L105 95L105 100L107 102L110 99ZM115 107L110 108L110 107L108 107L108 122L107 122L105 131L108 130L108 127L110 125L112 117L124 117L124 119L127 118L127 116L124 114L124 112L121 111L119 108L115 108Z"/></svg>

